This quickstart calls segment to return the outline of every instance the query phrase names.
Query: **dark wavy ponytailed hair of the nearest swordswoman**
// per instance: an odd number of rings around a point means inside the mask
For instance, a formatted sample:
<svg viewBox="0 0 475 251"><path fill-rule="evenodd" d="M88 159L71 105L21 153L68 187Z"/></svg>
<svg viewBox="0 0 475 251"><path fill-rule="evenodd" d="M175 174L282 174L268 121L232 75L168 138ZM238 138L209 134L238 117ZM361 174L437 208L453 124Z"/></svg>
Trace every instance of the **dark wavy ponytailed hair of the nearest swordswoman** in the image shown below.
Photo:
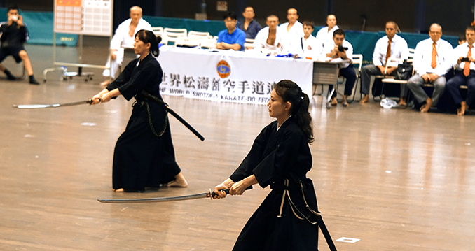
<svg viewBox="0 0 475 251"><path fill-rule="evenodd" d="M274 85L275 92L284 102L291 103L291 115L296 117L298 126L302 129L307 142L315 141L313 138L312 116L308 112L310 99L308 95L302 92L301 87L291 80L280 80Z"/></svg>

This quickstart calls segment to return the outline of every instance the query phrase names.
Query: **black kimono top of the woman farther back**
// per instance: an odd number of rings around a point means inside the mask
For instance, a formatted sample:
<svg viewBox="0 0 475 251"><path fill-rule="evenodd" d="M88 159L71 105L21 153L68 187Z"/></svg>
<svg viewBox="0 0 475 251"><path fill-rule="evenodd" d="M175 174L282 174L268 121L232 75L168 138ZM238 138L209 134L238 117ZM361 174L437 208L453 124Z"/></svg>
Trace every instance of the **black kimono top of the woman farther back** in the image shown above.
<svg viewBox="0 0 475 251"><path fill-rule="evenodd" d="M134 59L125 66L121 75L113 80L106 89L110 92L118 88L122 96L128 101L142 90L162 99L160 96L160 83L163 79L162 67L151 53L137 66L139 60Z"/></svg>

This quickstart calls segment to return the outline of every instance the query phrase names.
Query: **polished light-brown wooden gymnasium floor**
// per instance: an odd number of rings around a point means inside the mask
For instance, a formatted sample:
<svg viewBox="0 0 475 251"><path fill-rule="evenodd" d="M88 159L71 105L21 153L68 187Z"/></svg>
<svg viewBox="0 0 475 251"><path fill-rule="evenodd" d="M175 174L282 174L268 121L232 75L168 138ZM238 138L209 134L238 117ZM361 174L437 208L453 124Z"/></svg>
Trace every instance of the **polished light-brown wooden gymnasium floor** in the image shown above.
<svg viewBox="0 0 475 251"><path fill-rule="evenodd" d="M43 69L52 65L52 49L28 45L27 51L41 80ZM67 60L76 50L58 48L58 55ZM106 57L103 48L87 48L85 56L95 64ZM62 81L52 72L39 86L0 80L0 250L231 250L269 189L256 187L219 201L104 204L97 199L207 192L230 175L273 120L266 106L164 96L206 138L201 142L170 117L189 187L114 193L113 147L132 102L12 108L88 99L101 89L95 73L94 81L84 82ZM310 113L316 141L308 177L319 209L333 240L359 239L337 241L338 250L474 250L474 116L383 109L373 101L326 110L321 96L313 97ZM324 238L319 250L329 250Z"/></svg>

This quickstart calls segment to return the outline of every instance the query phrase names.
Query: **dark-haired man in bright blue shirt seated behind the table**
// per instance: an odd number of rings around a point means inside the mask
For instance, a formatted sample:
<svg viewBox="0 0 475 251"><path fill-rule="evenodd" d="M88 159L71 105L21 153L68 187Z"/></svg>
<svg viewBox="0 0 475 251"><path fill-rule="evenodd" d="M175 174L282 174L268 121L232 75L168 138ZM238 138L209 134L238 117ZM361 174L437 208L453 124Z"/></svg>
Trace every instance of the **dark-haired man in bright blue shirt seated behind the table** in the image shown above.
<svg viewBox="0 0 475 251"><path fill-rule="evenodd" d="M246 34L236 27L236 24L238 24L237 19L236 13L232 11L224 15L224 24L226 24L227 29L219 32L216 48L222 50L244 50Z"/></svg>

